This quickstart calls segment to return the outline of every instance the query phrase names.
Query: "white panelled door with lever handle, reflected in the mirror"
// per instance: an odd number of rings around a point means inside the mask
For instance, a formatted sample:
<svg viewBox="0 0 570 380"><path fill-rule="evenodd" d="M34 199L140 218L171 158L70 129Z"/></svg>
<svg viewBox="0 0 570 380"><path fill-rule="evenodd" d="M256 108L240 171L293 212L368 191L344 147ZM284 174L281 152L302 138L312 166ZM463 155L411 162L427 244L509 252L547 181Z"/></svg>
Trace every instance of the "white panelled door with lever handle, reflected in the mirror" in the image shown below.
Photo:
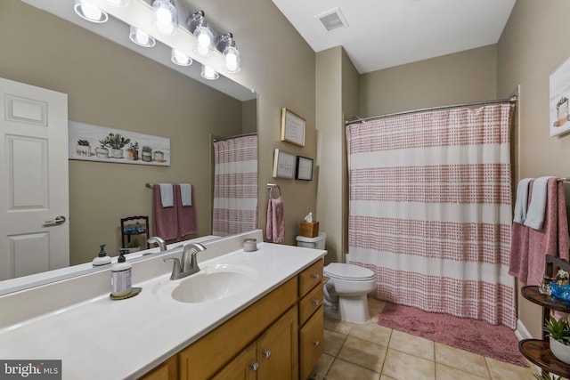
<svg viewBox="0 0 570 380"><path fill-rule="evenodd" d="M69 265L68 97L0 78L0 279Z"/></svg>

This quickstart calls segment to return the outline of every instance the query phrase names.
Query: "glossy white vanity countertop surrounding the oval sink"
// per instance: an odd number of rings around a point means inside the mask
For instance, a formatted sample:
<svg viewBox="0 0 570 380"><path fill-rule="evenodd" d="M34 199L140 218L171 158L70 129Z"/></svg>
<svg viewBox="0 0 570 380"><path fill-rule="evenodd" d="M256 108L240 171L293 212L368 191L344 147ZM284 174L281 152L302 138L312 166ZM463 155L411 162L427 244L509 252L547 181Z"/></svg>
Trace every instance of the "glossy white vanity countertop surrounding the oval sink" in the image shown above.
<svg viewBox="0 0 570 380"><path fill-rule="evenodd" d="M236 295L208 303L166 299L157 292L170 281L165 273L134 282L142 292L132 298L111 301L108 294L100 295L0 329L0 358L62 360L62 378L69 380L142 376L326 255L301 247L257 246L255 252L238 250L199 263L201 268L224 263L255 271L254 285Z"/></svg>

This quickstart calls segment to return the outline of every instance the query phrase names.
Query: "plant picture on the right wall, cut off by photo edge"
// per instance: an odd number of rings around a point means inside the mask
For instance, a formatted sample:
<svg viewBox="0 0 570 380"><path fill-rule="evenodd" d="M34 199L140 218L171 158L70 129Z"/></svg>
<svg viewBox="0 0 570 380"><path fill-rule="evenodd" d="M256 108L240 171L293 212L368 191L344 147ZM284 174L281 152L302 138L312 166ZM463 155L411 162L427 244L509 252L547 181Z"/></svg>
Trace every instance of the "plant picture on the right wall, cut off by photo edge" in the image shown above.
<svg viewBox="0 0 570 380"><path fill-rule="evenodd" d="M566 60L550 75L550 137L570 131L568 98L570 98L570 60Z"/></svg>

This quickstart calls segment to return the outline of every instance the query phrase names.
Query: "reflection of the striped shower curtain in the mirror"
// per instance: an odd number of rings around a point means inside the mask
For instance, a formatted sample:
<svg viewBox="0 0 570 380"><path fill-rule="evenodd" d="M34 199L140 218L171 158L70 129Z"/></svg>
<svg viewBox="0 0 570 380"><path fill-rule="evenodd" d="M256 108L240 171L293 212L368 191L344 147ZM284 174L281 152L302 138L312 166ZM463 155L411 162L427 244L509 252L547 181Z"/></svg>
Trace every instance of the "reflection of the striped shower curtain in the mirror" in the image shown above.
<svg viewBox="0 0 570 380"><path fill-rule="evenodd" d="M214 142L212 234L257 228L257 136Z"/></svg>

